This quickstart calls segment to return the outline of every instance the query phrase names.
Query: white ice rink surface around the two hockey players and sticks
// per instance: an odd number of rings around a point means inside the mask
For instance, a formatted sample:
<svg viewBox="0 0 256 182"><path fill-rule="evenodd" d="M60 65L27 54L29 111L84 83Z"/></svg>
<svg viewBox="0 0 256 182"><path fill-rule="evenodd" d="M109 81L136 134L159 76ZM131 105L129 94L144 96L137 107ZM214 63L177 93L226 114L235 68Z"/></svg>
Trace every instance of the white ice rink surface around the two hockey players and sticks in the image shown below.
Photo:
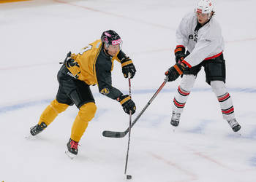
<svg viewBox="0 0 256 182"><path fill-rule="evenodd" d="M164 81L174 61L175 31L196 0L32 0L0 4L0 181L121 182L129 116L120 104L91 87L97 114L80 141L78 157L65 154L75 106L60 114L33 140L29 128L56 96L59 62L102 31L124 41L137 74L132 98L137 112ZM168 82L132 128L127 173L134 182L255 182L256 81L255 0L216 0L225 38L227 89L241 136L222 119L219 103L202 70L178 128L170 125L170 103L181 81ZM128 94L128 81L115 63L113 85Z"/></svg>

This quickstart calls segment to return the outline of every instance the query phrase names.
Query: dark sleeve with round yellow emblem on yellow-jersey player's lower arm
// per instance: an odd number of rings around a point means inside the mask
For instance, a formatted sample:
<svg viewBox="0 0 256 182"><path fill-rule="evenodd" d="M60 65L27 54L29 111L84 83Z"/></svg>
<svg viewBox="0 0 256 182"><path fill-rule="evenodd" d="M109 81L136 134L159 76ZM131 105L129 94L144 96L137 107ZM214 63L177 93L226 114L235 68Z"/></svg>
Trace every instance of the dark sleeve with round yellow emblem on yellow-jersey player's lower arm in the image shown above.
<svg viewBox="0 0 256 182"><path fill-rule="evenodd" d="M97 60L95 70L100 93L112 99L119 98L123 95L120 90L112 87L111 71L105 68L105 63Z"/></svg>

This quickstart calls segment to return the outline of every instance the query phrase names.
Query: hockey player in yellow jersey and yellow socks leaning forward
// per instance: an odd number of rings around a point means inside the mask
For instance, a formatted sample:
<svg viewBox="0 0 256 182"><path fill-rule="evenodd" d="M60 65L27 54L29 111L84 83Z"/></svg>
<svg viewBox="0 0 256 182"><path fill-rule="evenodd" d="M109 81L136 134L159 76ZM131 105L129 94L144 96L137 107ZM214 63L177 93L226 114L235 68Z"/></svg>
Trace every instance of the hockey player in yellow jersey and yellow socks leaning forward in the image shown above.
<svg viewBox="0 0 256 182"><path fill-rule="evenodd" d="M125 78L129 73L133 78L136 72L132 60L122 52L121 44L120 36L115 31L109 30L104 31L101 39L84 47L79 54L75 55L71 52L67 54L57 76L59 90L56 99L42 112L38 124L31 127L31 135L37 135L45 130L58 114L75 103L79 111L72 125L67 149L77 155L78 142L97 110L90 90L91 85L97 84L100 93L117 100L127 114L129 111L135 113L136 106L129 95L124 95L112 86L111 71L114 60L121 63Z"/></svg>

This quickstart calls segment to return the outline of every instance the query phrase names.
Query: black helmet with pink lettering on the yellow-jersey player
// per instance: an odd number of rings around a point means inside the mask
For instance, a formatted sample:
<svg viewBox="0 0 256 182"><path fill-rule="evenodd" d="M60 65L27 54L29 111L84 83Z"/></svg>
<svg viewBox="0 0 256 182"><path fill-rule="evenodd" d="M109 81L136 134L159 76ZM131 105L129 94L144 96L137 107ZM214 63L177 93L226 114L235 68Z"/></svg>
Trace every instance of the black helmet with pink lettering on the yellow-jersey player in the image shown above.
<svg viewBox="0 0 256 182"><path fill-rule="evenodd" d="M122 43L120 36L112 30L104 31L100 39L102 40L102 43L106 45L106 47L108 47L109 45L116 45Z"/></svg>

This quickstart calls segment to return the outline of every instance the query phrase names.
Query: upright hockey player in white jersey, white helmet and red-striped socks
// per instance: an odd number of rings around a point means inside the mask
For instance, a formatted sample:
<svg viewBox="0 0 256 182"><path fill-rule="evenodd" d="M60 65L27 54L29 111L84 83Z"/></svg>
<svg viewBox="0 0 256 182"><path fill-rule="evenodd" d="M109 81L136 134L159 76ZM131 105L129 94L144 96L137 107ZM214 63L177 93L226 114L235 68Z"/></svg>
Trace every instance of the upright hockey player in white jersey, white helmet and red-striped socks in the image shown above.
<svg viewBox="0 0 256 182"><path fill-rule="evenodd" d="M182 75L181 84L173 99L170 124L177 127L181 113L195 83L198 72L204 67L206 82L217 96L222 116L234 132L240 130L234 114L233 102L225 87L224 40L219 23L214 18L211 0L200 0L195 12L185 15L176 31L176 65L165 72L168 81ZM187 52L186 52L187 51Z"/></svg>

